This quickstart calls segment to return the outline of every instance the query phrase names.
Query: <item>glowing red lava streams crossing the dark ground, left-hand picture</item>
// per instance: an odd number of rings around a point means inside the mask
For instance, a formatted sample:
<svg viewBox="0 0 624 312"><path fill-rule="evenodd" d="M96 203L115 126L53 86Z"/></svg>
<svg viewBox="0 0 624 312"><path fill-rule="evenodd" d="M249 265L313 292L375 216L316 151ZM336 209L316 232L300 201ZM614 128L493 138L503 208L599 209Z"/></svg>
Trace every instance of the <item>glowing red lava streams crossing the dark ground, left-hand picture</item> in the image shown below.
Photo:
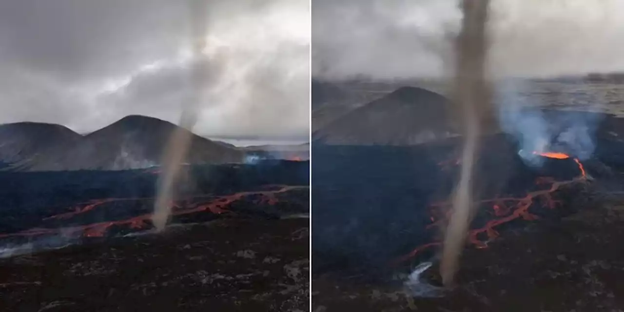
<svg viewBox="0 0 624 312"><path fill-rule="evenodd" d="M290 190L307 188L303 186L288 185L275 185L275 187L276 189L273 190L238 192L222 196L200 195L197 197L178 200L177 202L171 202L170 207L172 208L172 215L174 216L188 215L190 213L198 212L210 212L215 215L219 215L221 213L227 212L230 205L243 199L248 199L250 197L260 197L253 200L252 202L255 204L275 205L276 203L280 202L280 199L278 199L277 197L278 193L285 193ZM74 218L77 215L82 215L84 213L90 212L106 203L117 202L146 202L147 204L149 202L154 202L154 198L105 198L100 200L92 200L90 202L77 205L77 207L72 208L70 212L52 215L50 217L44 218L43 220L67 220ZM97 222L74 227L32 228L30 230L24 230L22 232L0 234L0 238L18 236L32 237L41 235L82 235L85 237L102 237L105 236L107 230L109 230L109 228L114 225L124 226L134 230L148 229L150 228L150 225L152 225L151 218L152 213L145 213L123 220Z"/></svg>

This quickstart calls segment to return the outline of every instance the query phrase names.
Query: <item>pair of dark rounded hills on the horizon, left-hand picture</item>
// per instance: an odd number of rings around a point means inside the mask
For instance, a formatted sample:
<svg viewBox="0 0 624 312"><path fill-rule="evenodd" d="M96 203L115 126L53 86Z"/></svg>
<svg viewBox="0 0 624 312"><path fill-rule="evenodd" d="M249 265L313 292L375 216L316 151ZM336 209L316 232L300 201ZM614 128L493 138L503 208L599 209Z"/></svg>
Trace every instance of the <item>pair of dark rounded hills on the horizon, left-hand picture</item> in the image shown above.
<svg viewBox="0 0 624 312"><path fill-rule="evenodd" d="M177 125L130 115L79 135L60 125L24 122L0 126L0 156L11 170L124 170L160 164ZM242 162L245 152L192 135L187 163Z"/></svg>

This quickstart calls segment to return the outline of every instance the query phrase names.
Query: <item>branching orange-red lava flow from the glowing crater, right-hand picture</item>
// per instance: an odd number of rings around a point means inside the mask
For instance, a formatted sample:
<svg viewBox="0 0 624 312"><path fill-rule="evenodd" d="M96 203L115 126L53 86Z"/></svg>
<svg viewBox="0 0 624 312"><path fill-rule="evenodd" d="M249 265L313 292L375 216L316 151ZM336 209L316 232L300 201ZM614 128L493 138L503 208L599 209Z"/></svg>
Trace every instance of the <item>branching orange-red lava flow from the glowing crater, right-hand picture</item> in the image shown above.
<svg viewBox="0 0 624 312"><path fill-rule="evenodd" d="M554 152L534 152L535 155L540 155L542 157L553 158L553 159L568 159L571 158L567 154L563 153L554 153ZM585 168L583 164L577 158L573 158L574 162L578 165L579 175L571 180L566 181L555 181L550 177L542 177L538 178L536 184L544 185L550 183L550 187L545 188L543 190L536 190L534 192L527 193L524 197L500 197L500 198L489 198L485 200L479 200L475 202L475 205L489 205L489 208L492 209L492 215L494 215L493 220L485 223L483 227L475 228L469 230L468 232L468 240L467 242L471 245L474 245L476 248L486 248L487 244L497 238L499 233L495 230L496 227L500 225L510 222L512 220L516 220L522 218L526 221L537 220L539 217L529 212L529 208L532 207L536 199L542 199L545 202L547 208L553 209L557 206L557 201L553 200L552 193L563 187L564 185L568 185L575 182L582 182L587 180L587 173L585 172ZM432 223L427 225L426 230L431 230L433 228L439 228L446 225L447 220L449 220L451 214L451 203L450 202L442 202L442 203L434 203L431 205L431 217L430 220ZM487 240L480 240L479 236L485 235L487 236ZM442 241L432 241L426 243L424 245L418 246L414 248L410 253L407 253L401 258L398 258L394 261L394 264L402 263L406 260L409 260L421 253L423 250L427 250L434 246L441 246Z"/></svg>

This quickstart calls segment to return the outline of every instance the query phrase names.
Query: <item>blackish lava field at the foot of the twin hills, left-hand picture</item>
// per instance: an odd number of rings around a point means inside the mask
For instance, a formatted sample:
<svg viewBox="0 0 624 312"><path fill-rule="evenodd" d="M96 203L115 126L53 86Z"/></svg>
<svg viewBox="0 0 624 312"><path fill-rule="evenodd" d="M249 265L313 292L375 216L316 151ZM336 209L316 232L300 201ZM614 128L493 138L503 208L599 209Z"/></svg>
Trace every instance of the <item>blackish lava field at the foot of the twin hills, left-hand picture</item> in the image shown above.
<svg viewBox="0 0 624 312"><path fill-rule="evenodd" d="M179 183L180 209L192 209L199 203L218 202L236 193L246 192L223 213L197 211L176 217L173 222L198 222L217 218L281 218L309 211L309 162L265 161L256 165L197 165L187 168L187 180ZM0 243L3 234L30 228L47 228L51 236L63 228L127 220L151 213L154 209L158 175L152 170L2 172L0 199L4 203L0 218ZM266 202L262 192L288 187ZM98 203L82 213L77 209ZM54 215L65 217L51 218ZM127 230L145 230L149 224ZM76 232L80 234L80 231ZM62 235L61 235L62 236ZM36 236L16 236L17 242L32 242ZM9 237L11 241L16 239ZM26 240L26 241L24 241ZM16 243L17 243L16 242Z"/></svg>

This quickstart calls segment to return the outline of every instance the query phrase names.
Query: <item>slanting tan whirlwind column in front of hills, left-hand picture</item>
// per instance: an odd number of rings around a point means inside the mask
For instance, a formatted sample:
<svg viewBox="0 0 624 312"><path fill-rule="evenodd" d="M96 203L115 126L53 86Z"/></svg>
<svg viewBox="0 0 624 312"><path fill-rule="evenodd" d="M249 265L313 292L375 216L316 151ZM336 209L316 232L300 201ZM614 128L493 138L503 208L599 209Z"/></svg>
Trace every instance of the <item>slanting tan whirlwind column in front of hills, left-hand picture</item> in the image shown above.
<svg viewBox="0 0 624 312"><path fill-rule="evenodd" d="M190 0L190 22L192 31L193 59L192 68L193 94L182 112L180 124L171 135L163 152L162 171L158 176L157 195L154 203L152 222L158 232L162 231L171 214L171 203L175 196L175 185L180 176L182 162L190 147L193 126L197 122L198 104L203 102L208 85L208 59L203 54L207 35L207 1Z"/></svg>

